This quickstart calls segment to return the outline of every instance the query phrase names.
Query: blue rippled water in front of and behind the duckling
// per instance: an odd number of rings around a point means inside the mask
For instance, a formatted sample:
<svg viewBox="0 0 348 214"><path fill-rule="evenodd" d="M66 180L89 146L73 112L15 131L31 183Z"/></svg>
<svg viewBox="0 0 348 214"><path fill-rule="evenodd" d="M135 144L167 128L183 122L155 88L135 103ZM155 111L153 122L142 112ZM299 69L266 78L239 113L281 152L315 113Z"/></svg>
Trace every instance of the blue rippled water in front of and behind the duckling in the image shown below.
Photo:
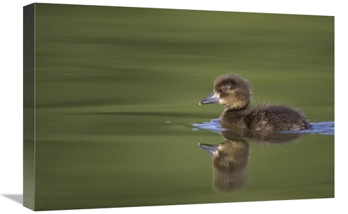
<svg viewBox="0 0 348 214"><path fill-rule="evenodd" d="M301 131L281 131L283 133L317 133L320 135L334 135L335 134L335 122L312 122L310 129L301 130ZM200 124L192 124L196 128L193 128L193 131L198 131L199 129L205 129L209 131L219 132L226 130L221 126L219 119L213 119L209 122L203 122Z"/></svg>

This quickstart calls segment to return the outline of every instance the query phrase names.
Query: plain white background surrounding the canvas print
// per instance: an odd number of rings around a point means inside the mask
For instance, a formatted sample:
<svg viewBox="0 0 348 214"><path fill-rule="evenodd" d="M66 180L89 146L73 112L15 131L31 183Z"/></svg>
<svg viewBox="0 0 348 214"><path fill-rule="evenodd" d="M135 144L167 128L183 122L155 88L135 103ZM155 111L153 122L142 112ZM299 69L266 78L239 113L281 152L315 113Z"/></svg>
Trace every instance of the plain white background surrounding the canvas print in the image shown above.
<svg viewBox="0 0 348 214"><path fill-rule="evenodd" d="M32 213L18 199L22 195L22 11L33 1L1 3L0 64L0 213ZM335 199L261 201L226 204L152 206L135 208L100 208L54 213L347 213L347 140L343 136L347 120L347 9L345 1L40 1L36 3L69 3L99 6L133 6L145 8L178 8L224 10L258 13L287 13L335 16ZM318 92L320 93L320 92ZM325 97L323 97L325 99ZM18 197L17 197L18 198Z"/></svg>

